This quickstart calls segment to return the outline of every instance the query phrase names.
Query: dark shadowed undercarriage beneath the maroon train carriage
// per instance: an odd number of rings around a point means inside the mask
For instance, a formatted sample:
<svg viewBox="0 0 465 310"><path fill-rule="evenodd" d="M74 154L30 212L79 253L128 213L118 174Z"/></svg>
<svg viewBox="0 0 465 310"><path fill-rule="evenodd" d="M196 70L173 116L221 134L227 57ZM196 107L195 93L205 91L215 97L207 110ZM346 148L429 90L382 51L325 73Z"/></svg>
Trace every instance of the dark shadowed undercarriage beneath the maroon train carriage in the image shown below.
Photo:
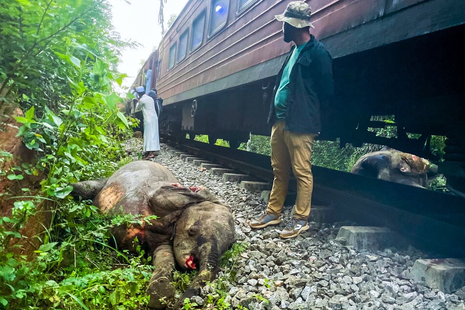
<svg viewBox="0 0 465 310"><path fill-rule="evenodd" d="M438 160L433 135L446 136L439 172L465 189L465 26L451 27L334 59L337 99L319 136L352 143L388 145ZM263 64L266 66L266 63ZM249 134L269 135L266 124L275 77L199 95L165 107L162 133L184 137L207 134L238 147ZM376 116L391 116L391 122ZM373 129L396 127L393 137Z"/></svg>

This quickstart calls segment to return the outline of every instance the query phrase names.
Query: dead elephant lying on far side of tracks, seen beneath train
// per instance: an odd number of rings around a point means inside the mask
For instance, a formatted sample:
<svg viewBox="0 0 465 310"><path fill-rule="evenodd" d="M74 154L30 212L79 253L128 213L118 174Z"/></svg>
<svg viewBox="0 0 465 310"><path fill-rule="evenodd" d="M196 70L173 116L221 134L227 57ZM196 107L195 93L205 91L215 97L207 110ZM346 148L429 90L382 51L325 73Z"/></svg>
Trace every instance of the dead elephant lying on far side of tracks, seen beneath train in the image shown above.
<svg viewBox="0 0 465 310"><path fill-rule="evenodd" d="M378 152L358 158L351 172L365 177L428 188L429 179L438 174L438 166L416 155L384 147Z"/></svg>

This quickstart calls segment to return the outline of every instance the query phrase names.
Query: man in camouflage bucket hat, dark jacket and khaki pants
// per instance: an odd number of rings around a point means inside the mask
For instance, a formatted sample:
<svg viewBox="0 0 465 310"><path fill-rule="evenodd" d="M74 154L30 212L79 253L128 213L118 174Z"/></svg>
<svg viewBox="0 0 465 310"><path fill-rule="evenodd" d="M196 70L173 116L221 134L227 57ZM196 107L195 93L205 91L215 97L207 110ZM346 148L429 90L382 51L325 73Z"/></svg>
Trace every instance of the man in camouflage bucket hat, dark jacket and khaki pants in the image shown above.
<svg viewBox="0 0 465 310"><path fill-rule="evenodd" d="M292 219L279 235L292 238L309 229L313 176L311 148L321 131L320 111L325 111L334 95L332 57L323 44L310 34L310 6L292 1L276 15L283 22L285 42L294 42L276 78L274 100L268 123L271 129L271 166L274 181L266 214L249 223L264 228L281 222L281 210L288 192L290 169L297 179L297 199Z"/></svg>

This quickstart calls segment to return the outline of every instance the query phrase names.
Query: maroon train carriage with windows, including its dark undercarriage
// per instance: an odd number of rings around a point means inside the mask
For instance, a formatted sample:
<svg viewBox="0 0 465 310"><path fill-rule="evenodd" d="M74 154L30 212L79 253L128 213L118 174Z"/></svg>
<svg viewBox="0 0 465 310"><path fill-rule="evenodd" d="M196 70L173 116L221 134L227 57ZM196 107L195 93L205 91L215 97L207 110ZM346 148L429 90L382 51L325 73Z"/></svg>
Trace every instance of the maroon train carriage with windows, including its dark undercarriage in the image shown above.
<svg viewBox="0 0 465 310"><path fill-rule="evenodd" d="M282 23L289 0L190 0L141 68L137 85L164 99L164 134L208 134L237 147L249 133L269 135L275 76L290 44ZM465 1L308 0L312 33L334 58L337 100L321 139L385 144L423 157L431 135L445 135L440 169L464 176ZM376 115L395 115L398 136ZM409 138L407 133L418 133Z"/></svg>

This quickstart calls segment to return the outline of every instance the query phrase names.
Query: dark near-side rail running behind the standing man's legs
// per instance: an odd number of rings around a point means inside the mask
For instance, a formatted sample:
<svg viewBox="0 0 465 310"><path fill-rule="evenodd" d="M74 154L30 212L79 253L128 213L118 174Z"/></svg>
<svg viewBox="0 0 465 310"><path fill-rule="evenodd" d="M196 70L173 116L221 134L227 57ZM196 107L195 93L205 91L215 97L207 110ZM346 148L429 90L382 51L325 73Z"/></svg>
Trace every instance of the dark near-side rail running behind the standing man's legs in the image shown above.
<svg viewBox="0 0 465 310"><path fill-rule="evenodd" d="M252 179L272 183L269 156L187 139L166 142ZM465 257L465 199L318 166L313 166L312 172L312 205L331 206L338 219L389 227L409 244L436 255ZM292 192L293 177L288 201L293 199Z"/></svg>

